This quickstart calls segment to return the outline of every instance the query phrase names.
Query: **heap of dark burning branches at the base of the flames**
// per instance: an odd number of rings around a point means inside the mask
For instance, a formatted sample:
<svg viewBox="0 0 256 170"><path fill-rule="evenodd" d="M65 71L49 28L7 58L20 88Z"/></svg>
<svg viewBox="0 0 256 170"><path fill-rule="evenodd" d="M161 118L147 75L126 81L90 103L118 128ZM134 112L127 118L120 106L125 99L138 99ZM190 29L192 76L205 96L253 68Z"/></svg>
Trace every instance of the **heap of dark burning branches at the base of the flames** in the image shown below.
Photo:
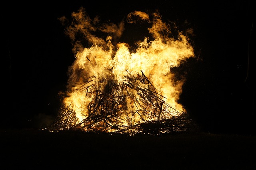
<svg viewBox="0 0 256 170"><path fill-rule="evenodd" d="M92 98L86 108L88 115L79 121L71 104L63 106L50 127L52 130L156 135L195 129L188 115L168 105L142 71L126 77L121 84L114 80L114 76L108 77L102 91L92 83L95 79L89 77L78 89Z"/></svg>

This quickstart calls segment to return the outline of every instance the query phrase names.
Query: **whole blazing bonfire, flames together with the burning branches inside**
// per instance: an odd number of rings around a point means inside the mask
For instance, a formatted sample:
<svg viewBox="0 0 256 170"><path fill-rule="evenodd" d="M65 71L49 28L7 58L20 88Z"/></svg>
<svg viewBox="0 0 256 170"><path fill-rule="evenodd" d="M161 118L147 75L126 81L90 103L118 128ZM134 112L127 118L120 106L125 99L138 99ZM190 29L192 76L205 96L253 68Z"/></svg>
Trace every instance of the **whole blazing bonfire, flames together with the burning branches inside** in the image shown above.
<svg viewBox="0 0 256 170"><path fill-rule="evenodd" d="M172 37L170 25L155 12L134 11L126 22L99 24L84 8L72 13L67 34L74 41L75 61L70 67L68 91L54 122L60 129L80 128L104 132L139 132L138 125L166 121L186 113L178 103L184 80L175 81L170 70L194 57L189 39ZM64 18L62 18L64 19ZM146 22L150 37L118 42L125 24ZM106 36L95 36L93 33ZM82 34L88 47L76 41Z"/></svg>

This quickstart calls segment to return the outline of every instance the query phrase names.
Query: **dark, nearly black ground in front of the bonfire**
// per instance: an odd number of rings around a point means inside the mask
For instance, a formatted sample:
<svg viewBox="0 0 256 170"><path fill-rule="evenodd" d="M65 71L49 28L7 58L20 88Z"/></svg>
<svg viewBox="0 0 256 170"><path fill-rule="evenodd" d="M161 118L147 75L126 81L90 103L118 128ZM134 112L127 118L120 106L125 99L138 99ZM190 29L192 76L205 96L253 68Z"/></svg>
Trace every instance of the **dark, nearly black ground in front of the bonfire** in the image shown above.
<svg viewBox="0 0 256 170"><path fill-rule="evenodd" d="M256 169L256 136L20 129L1 130L0 137L1 169Z"/></svg>

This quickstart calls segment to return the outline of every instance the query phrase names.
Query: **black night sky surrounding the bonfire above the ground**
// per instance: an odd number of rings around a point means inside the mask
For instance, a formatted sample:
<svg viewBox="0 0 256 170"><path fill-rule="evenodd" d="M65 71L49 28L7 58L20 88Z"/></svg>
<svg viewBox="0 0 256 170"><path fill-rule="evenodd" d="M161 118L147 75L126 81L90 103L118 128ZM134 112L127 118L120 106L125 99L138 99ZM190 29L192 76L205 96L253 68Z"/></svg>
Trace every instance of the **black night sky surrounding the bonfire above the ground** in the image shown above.
<svg viewBox="0 0 256 170"><path fill-rule="evenodd" d="M83 6L91 18L99 15L116 23L134 10L156 9L163 20L186 20L194 29L198 60L186 65L180 102L206 131L255 132L254 32L250 36L255 12L250 0L53 2L9 2L1 7L2 128L40 127L56 116L58 92L65 90L66 72L74 61L72 45L57 18L70 18ZM250 75L245 83L248 57Z"/></svg>

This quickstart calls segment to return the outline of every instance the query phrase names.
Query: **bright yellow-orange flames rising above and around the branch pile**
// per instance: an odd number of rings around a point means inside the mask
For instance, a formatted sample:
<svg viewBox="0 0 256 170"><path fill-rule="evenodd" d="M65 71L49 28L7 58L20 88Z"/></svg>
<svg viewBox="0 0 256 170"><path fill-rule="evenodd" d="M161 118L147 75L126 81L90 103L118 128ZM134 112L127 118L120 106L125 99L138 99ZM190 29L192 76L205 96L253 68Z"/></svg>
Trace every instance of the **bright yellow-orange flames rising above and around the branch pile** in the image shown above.
<svg viewBox="0 0 256 170"><path fill-rule="evenodd" d="M170 68L177 67L182 61L194 57L193 48L182 32L179 33L178 38L174 39L170 36L170 26L162 22L157 12L150 20L150 16L145 12L134 11L127 16L128 24L134 24L137 20L151 23L152 27L148 28L148 32L154 40L145 37L144 40L136 42L136 50L130 51L129 44L116 43L122 36L124 22L119 25L111 23L96 27L95 24L98 24L99 18L91 20L83 8L77 13L74 12L72 17L73 26L67 32L70 38L75 40L75 33L80 32L91 44L90 47L83 47L78 42L74 43L73 50L77 51L76 60L71 67L68 97L63 102L65 107L71 107L76 113L75 123L82 122L88 117L88 105L94 99L95 89L104 91L107 88L106 85L109 85L107 80L110 77L121 85L127 81L127 77L140 74L141 71L153 83L158 94L165 97L164 102L178 112L186 112L177 102L182 93L184 81L172 82L175 75L170 72ZM107 33L108 36L105 39L96 37L92 33L97 31ZM139 81L136 83L138 83L137 86L147 88L145 87L147 85ZM130 93L130 97L126 99L126 108L122 109L122 104L118 104L120 124L135 125L142 119L145 121L156 119L132 112L143 108L134 105L133 99L140 98L136 91L130 89L127 93ZM165 116L171 117L172 114L175 113L170 112L170 115Z"/></svg>

